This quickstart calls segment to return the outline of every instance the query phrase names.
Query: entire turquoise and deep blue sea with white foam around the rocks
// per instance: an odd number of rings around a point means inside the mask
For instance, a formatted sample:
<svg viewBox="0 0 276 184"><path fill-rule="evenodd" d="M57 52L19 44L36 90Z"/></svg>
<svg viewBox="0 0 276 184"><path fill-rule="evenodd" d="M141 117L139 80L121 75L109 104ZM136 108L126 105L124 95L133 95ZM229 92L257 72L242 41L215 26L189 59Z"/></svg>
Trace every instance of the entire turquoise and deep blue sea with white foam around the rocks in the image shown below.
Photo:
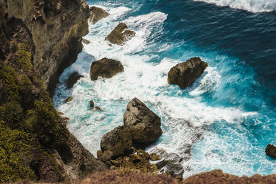
<svg viewBox="0 0 276 184"><path fill-rule="evenodd" d="M101 136L123 124L137 97L161 117L164 131L148 152L178 154L184 177L214 169L275 173L264 150L276 144L276 1L248 2L89 1L110 16L89 26L91 43L59 79L53 101L70 118L69 130L96 154ZM104 38L120 21L136 36L110 46ZM103 57L121 61L125 71L90 81L90 64ZM204 74L186 90L168 85L170 68L190 57L209 64ZM68 90L75 71L84 77ZM68 96L74 99L64 104ZM89 110L90 100L104 111Z"/></svg>

